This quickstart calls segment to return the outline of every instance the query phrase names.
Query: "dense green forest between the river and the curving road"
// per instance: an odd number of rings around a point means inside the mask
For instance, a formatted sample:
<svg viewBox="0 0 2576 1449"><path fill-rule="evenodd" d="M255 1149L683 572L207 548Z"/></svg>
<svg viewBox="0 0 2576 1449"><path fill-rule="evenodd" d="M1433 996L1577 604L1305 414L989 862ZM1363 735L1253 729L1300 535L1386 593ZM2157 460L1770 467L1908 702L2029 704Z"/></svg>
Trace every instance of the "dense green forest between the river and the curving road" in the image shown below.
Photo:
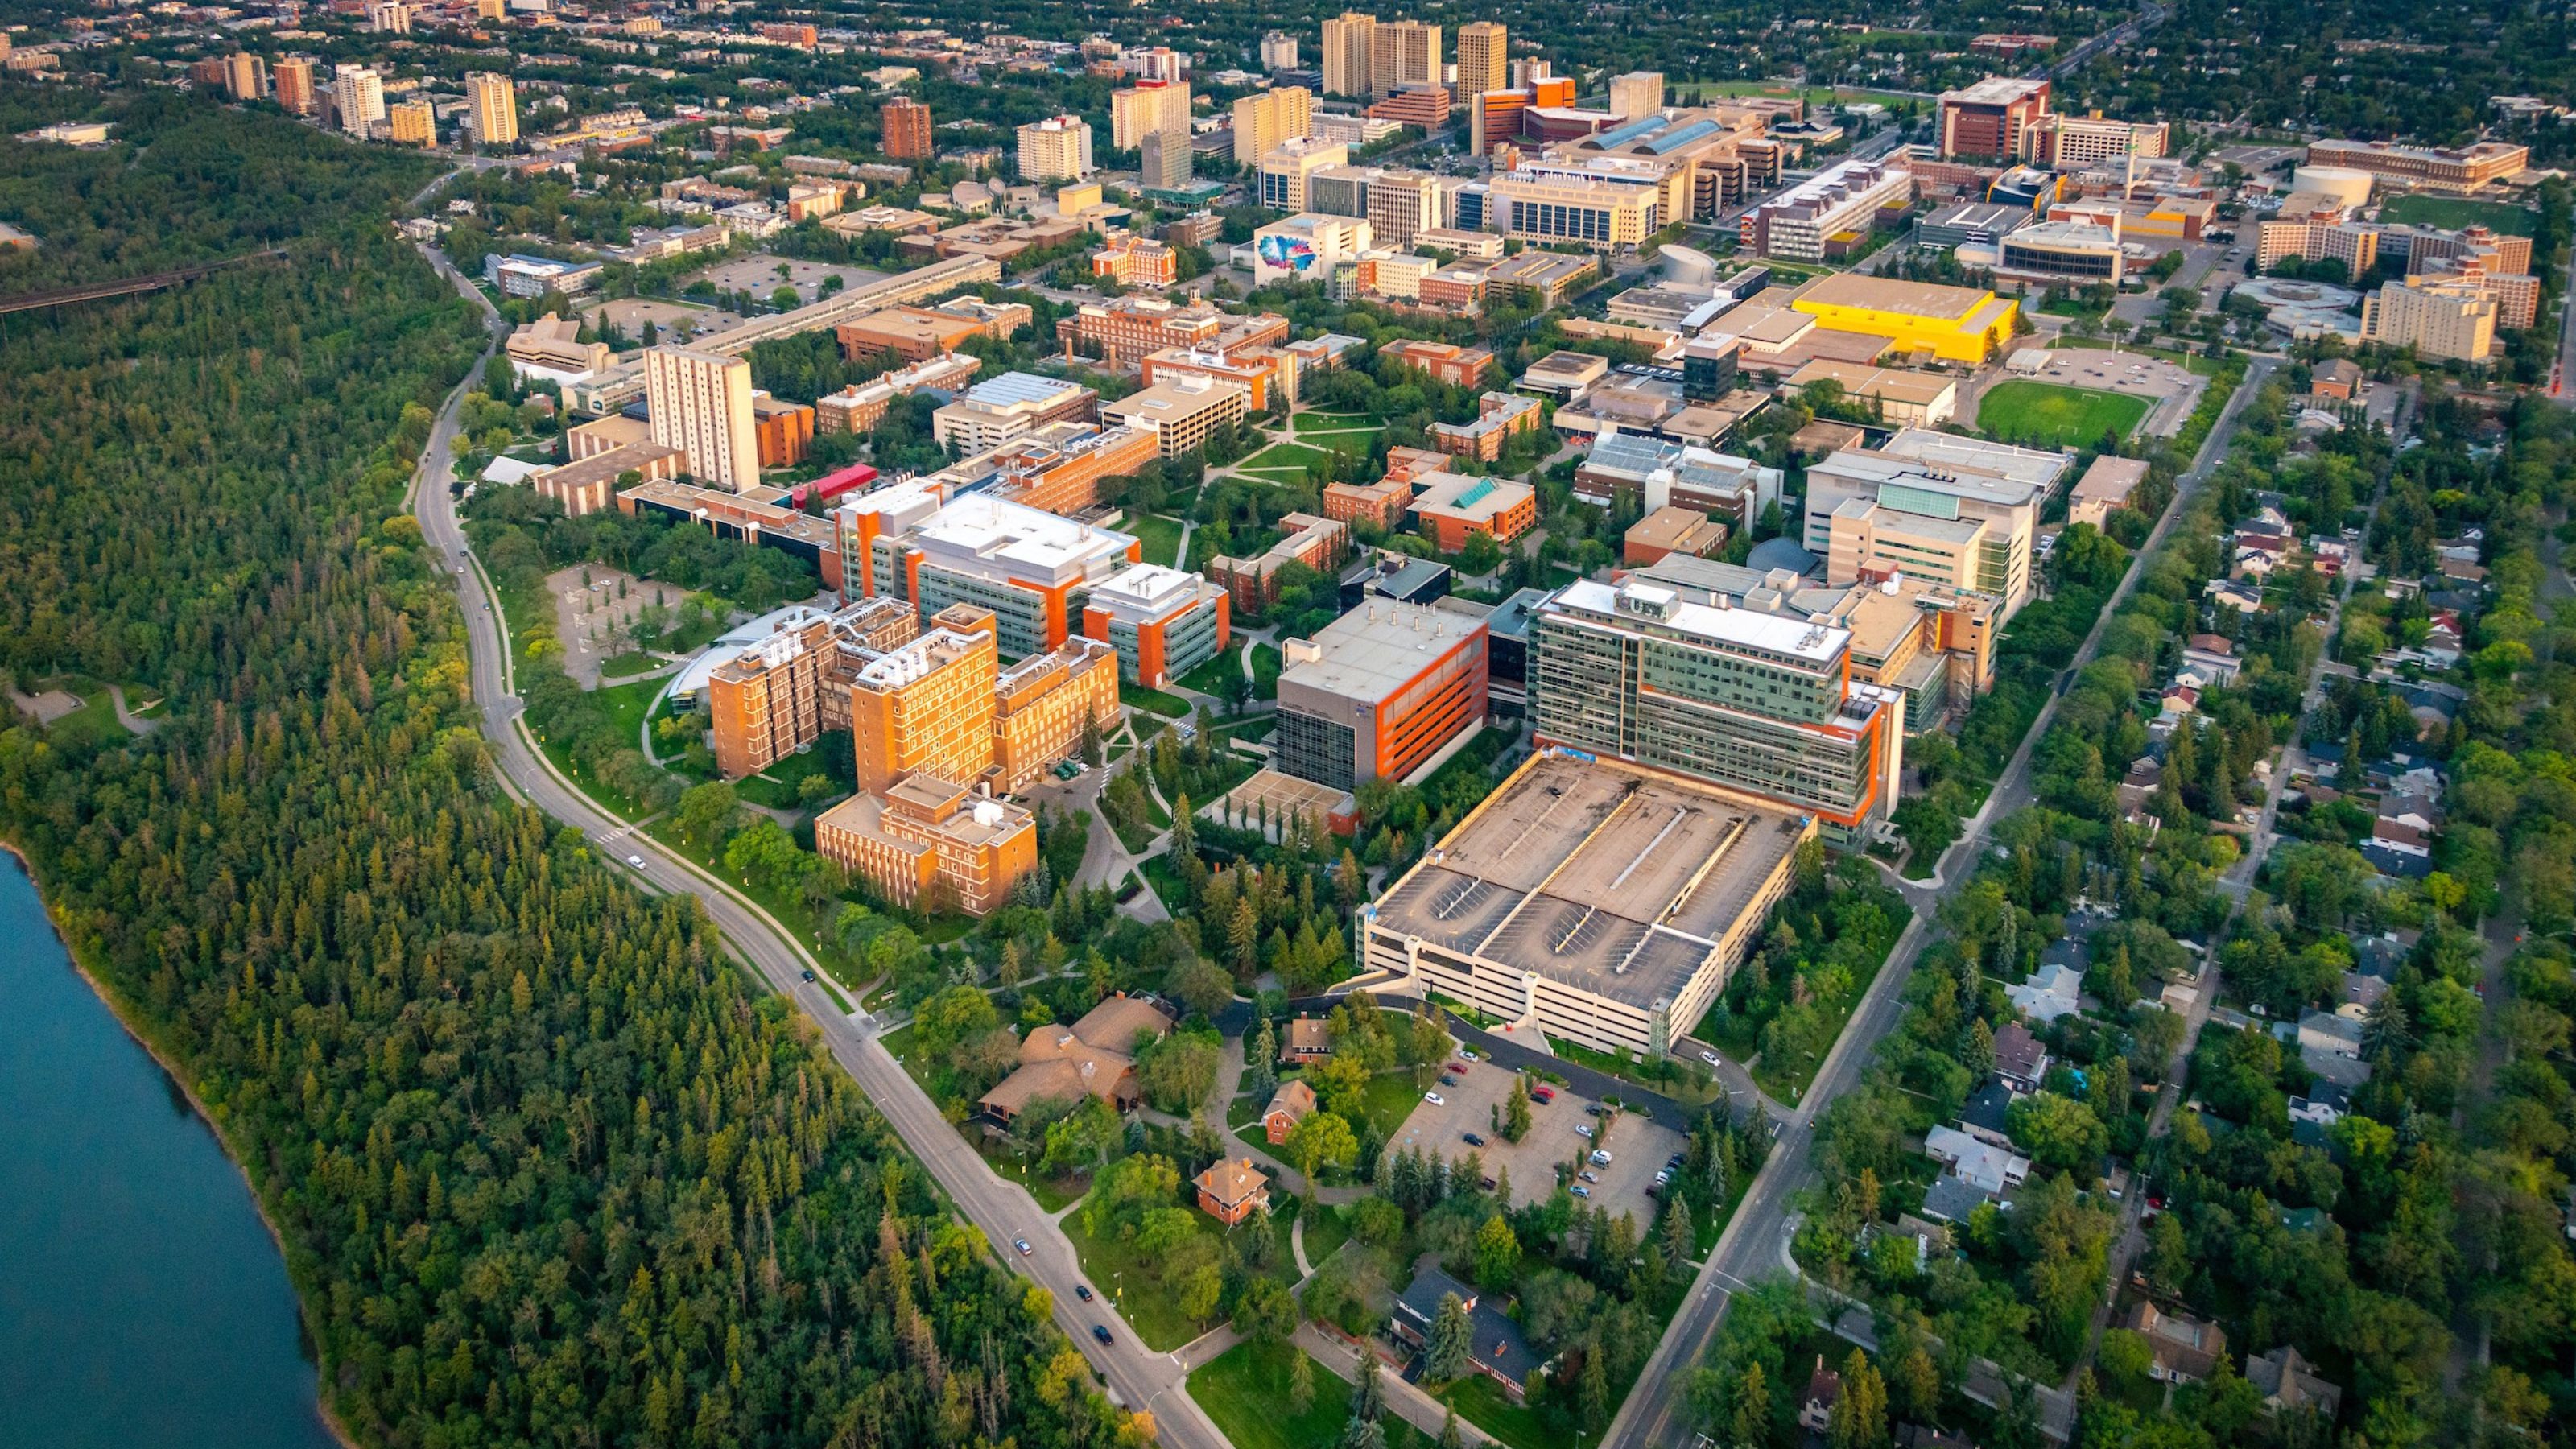
<svg viewBox="0 0 2576 1449"><path fill-rule="evenodd" d="M98 106L0 88L0 129ZM162 694L0 732L0 833L278 1227L361 1444L1126 1444L971 1227L690 902L495 792L402 511L479 325L417 157L175 95L0 144L44 278L291 266L0 322L0 670ZM227 186L173 186L222 175Z"/></svg>

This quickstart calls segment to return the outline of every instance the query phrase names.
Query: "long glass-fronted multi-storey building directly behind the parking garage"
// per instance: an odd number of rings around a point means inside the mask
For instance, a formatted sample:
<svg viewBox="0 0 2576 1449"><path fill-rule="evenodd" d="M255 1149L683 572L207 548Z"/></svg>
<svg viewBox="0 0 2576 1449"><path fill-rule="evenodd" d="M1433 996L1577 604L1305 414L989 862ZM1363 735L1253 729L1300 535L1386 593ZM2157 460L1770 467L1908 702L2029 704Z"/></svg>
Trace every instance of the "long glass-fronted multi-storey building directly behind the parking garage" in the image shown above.
<svg viewBox="0 0 2576 1449"><path fill-rule="evenodd" d="M1896 807L1899 699L1850 678L1852 634L1674 588L1577 580L1530 616L1546 745L1690 773L1850 835Z"/></svg>

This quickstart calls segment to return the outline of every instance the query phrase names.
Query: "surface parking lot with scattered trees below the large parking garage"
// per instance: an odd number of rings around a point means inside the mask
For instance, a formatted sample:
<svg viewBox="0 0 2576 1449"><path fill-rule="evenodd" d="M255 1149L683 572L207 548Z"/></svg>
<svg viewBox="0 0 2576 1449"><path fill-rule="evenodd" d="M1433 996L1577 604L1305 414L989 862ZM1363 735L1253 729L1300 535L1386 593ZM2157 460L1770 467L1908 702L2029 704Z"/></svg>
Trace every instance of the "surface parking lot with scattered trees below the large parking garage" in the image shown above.
<svg viewBox="0 0 2576 1449"><path fill-rule="evenodd" d="M1450 1052L1450 1062L1461 1057ZM1533 1085L1538 1085L1533 1080ZM1682 1134L1669 1127L1656 1127L1646 1116L1610 1114L1587 1116L1584 1109L1595 1106L1592 1098L1574 1093L1571 1088L1556 1088L1553 1104L1530 1101L1530 1134L1520 1142L1504 1142L1494 1122L1502 1116L1502 1104L1512 1096L1512 1073L1497 1067L1494 1062L1468 1062L1466 1075L1455 1080L1443 1080L1432 1085L1435 1093L1448 1098L1448 1106L1417 1104L1414 1114L1404 1119L1388 1150L1422 1150L1440 1158L1463 1158L1466 1152L1484 1152L1484 1173L1502 1176L1504 1168L1512 1173L1512 1201L1543 1201L1556 1191L1556 1168L1561 1163L1577 1163L1592 1155L1592 1147L1610 1150L1607 1168L1587 1171L1597 1173L1602 1181L1582 1183L1592 1189L1589 1207L1602 1207L1613 1217L1620 1212L1631 1214L1638 1230L1654 1222L1656 1201L1646 1194L1654 1183L1654 1173L1664 1171L1664 1158L1682 1150ZM1610 1124L1607 1137L1582 1137L1577 1127L1592 1127L1602 1132ZM1466 1132L1484 1137L1484 1147L1463 1140Z"/></svg>

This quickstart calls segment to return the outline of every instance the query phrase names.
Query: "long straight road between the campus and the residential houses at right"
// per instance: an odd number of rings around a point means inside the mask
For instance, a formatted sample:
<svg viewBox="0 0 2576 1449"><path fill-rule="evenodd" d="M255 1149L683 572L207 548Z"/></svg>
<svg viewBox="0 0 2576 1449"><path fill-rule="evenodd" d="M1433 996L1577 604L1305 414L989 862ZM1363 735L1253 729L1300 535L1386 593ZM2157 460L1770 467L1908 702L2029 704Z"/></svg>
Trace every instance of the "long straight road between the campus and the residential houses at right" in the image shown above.
<svg viewBox="0 0 2576 1449"><path fill-rule="evenodd" d="M2076 650L2069 676L2092 663L2094 652L2102 647L2102 629L2110 624L2110 616L2117 614L2120 603L2125 603L2136 590L2156 544L2164 541L2174 521L2182 518L2190 498L2202 482L2208 482L2218 459L2226 456L2228 438L2236 436L2236 423L2244 418L2244 405L2262 389L2275 366L2275 358L2254 358L2246 369L2244 384L2239 384L2236 394L2228 397L2226 413L2218 418L2218 425L2210 428L2208 441L2202 441L2200 456L2192 459L2192 472L2187 472L2179 480L2179 487L2174 487L2174 503L2166 505L2164 518L2156 521L2146 547L2136 552L2128 575L2120 578L2120 588L2112 590L2110 603L2102 608L2102 619L2094 621L2081 650ZM1690 1297L1682 1302L1682 1310L1674 1312L1672 1325L1664 1330L1664 1341L1646 1361L1646 1372L1638 1377L1628 1403L1623 1403L1618 1418L1610 1421L1610 1431L1602 1436L1600 1449L1649 1449L1685 1444L1690 1439L1690 1421L1682 1408L1682 1377L1705 1356L1710 1338L1726 1320L1728 1297L1780 1269L1790 1207L1798 1194L1819 1181L1814 1163L1808 1163L1808 1142L1814 1140L1816 1114L1860 1083L1878 1042L1896 1029L1896 1021L1904 1013L1904 982L1914 975L1914 959L1929 938L1932 913L1940 908L1940 900L1955 895L1973 874L1971 866L1976 853L1986 848L1986 828L1994 820L2030 807L2035 799L2030 786L2030 755L2040 735L2048 732L2048 722L2056 712L2058 696L2050 696L2040 709L2040 717L2030 724L2030 732L2022 735L2022 748L2014 750L2004 776L1986 794L1986 804L1968 822L1960 841L1942 856L1942 884L1929 892L1909 892L1909 900L1914 900L1914 920L1906 923L1904 936L1896 938L1896 949L1888 951L1888 964L1878 972L1878 980L1870 982L1868 995L1852 1013L1852 1024L1844 1026L1842 1036L1834 1042L1834 1049L1816 1073L1816 1083L1808 1088L1806 1101L1801 1101L1798 1111L1780 1122L1780 1137L1772 1145L1770 1160L1754 1176L1752 1189L1736 1207L1734 1220L1728 1220L1716 1250L1708 1253L1708 1263L1700 1266L1700 1276L1690 1287Z"/></svg>

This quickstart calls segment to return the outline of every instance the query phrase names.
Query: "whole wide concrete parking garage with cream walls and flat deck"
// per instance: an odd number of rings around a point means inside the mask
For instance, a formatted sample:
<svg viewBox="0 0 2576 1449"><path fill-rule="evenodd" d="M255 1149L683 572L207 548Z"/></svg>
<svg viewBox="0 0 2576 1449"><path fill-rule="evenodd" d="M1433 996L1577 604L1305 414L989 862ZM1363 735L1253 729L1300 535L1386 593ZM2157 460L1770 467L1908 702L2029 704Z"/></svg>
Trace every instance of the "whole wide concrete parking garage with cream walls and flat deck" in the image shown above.
<svg viewBox="0 0 2576 1449"><path fill-rule="evenodd" d="M1540 750L1360 915L1363 964L1589 1047L1662 1057L1788 895L1814 817Z"/></svg>

